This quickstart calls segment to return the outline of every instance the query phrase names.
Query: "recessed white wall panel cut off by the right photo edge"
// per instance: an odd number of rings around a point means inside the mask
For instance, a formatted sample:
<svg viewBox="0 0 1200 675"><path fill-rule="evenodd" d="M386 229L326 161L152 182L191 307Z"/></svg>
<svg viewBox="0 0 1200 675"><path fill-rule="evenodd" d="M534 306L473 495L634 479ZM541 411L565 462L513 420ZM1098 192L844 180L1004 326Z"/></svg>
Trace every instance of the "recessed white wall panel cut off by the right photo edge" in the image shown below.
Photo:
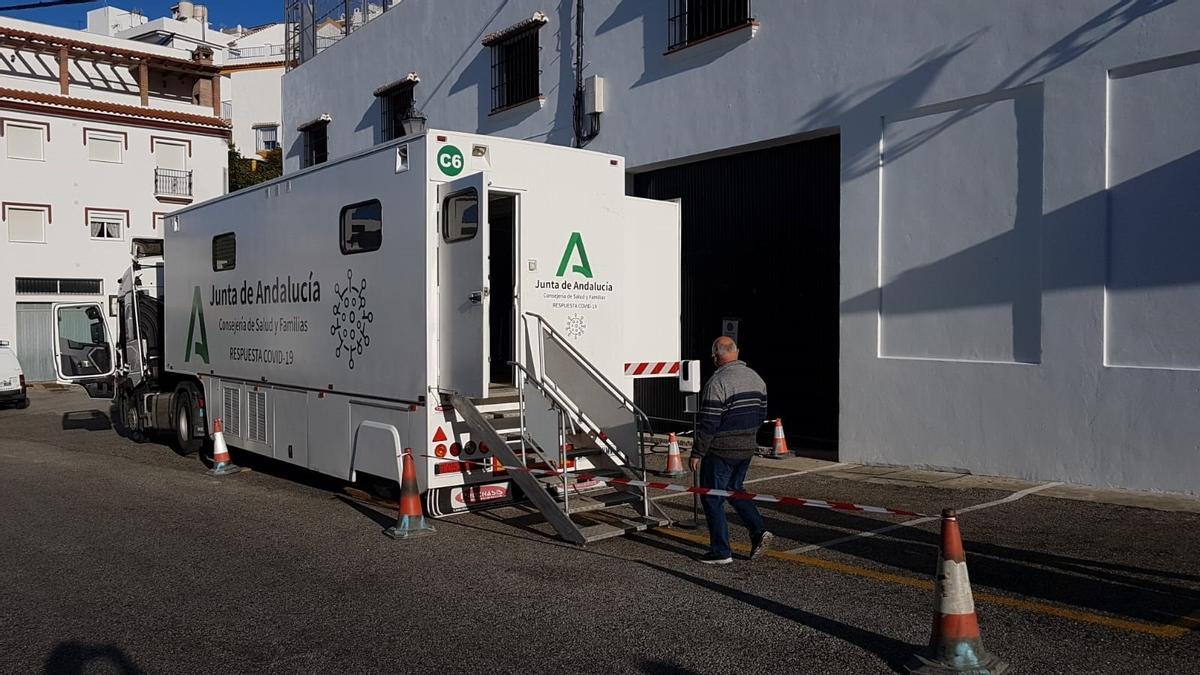
<svg viewBox="0 0 1200 675"><path fill-rule="evenodd" d="M1200 369L1200 52L1114 73L1108 363Z"/></svg>

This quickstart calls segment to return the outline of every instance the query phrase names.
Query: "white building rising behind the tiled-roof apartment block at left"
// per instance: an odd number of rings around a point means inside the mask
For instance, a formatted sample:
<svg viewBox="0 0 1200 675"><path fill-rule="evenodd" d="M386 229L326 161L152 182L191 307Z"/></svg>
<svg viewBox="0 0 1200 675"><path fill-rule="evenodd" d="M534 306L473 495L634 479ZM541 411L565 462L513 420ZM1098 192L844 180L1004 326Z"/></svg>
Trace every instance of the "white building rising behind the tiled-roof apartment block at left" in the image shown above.
<svg viewBox="0 0 1200 675"><path fill-rule="evenodd" d="M281 7L282 11L282 7ZM246 157L278 147L283 78L284 25L214 29L209 10L178 2L169 17L150 19L138 11L104 6L88 12L88 31L164 44L192 52L212 50L221 66L221 117L233 126L233 143Z"/></svg>

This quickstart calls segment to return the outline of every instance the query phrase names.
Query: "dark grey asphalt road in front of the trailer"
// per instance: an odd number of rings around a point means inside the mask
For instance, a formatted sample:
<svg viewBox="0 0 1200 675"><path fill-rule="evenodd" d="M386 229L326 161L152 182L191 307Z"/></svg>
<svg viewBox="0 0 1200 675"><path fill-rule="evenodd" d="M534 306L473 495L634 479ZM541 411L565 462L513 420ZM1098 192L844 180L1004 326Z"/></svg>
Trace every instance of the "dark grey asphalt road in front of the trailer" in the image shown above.
<svg viewBox="0 0 1200 675"><path fill-rule="evenodd" d="M252 471L209 477L73 390L0 411L0 671L889 673L929 639L936 521L860 537L905 519L764 508L779 550L846 540L720 568L690 560L702 532L575 548L517 508L394 542L342 483L234 459ZM1012 495L754 488L924 513ZM1014 671L1200 671L1196 513L1031 494L960 520L984 644Z"/></svg>

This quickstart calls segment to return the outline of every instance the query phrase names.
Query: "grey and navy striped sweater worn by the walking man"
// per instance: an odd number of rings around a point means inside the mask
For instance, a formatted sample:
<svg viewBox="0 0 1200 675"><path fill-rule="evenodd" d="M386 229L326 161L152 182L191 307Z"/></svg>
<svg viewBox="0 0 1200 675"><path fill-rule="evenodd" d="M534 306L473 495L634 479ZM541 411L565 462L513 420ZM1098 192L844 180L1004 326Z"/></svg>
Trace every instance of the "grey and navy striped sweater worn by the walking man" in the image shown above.
<svg viewBox="0 0 1200 675"><path fill-rule="evenodd" d="M758 426L767 419L767 384L743 362L716 369L701 394L700 428L691 456L750 459Z"/></svg>

